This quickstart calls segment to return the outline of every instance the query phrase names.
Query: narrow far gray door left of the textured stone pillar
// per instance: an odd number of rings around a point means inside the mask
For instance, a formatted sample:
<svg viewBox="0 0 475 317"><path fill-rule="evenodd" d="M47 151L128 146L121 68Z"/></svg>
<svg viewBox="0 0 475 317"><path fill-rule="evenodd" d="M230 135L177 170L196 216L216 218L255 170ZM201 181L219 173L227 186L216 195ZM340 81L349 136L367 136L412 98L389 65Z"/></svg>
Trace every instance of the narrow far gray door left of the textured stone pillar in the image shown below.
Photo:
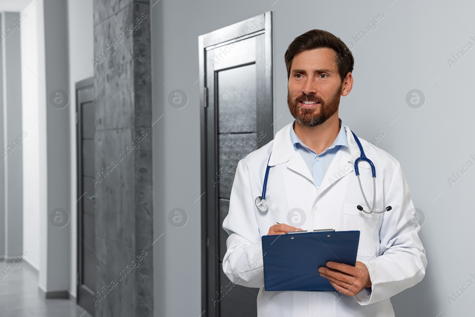
<svg viewBox="0 0 475 317"><path fill-rule="evenodd" d="M93 78L76 84L77 104L77 304L95 315L95 207L94 138L95 103Z"/></svg>

